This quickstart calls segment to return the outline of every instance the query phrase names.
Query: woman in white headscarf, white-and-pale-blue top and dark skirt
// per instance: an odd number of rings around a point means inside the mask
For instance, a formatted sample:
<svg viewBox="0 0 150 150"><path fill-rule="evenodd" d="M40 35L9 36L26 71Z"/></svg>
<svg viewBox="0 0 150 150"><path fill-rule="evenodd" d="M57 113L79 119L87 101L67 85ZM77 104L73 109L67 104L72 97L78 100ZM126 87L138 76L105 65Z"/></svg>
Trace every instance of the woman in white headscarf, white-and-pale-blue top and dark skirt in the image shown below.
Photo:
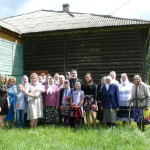
<svg viewBox="0 0 150 150"><path fill-rule="evenodd" d="M129 82L126 73L121 74L120 82L121 83L118 85L120 97L120 110L117 114L118 120L122 122L122 125L125 125L127 121L131 125L131 120L133 120L133 109L130 108L129 99L131 99L133 84Z"/></svg>

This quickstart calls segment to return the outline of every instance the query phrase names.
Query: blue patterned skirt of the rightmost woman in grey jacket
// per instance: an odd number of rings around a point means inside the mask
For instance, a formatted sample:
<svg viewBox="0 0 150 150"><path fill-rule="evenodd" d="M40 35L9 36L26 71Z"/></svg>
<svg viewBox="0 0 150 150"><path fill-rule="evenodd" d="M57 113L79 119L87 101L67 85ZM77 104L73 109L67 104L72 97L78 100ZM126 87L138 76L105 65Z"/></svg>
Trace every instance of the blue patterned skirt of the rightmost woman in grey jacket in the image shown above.
<svg viewBox="0 0 150 150"><path fill-rule="evenodd" d="M134 108L134 121L141 123L144 121L143 108Z"/></svg>

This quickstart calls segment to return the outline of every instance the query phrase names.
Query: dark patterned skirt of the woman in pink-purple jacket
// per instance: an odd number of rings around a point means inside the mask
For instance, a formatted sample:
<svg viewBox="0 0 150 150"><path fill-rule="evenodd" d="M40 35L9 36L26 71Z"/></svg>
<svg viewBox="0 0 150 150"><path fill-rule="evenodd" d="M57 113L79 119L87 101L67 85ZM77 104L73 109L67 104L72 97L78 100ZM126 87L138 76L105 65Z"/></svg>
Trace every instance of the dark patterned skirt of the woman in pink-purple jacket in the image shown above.
<svg viewBox="0 0 150 150"><path fill-rule="evenodd" d="M55 106L46 106L45 107L44 121L49 124L58 124L59 113Z"/></svg>

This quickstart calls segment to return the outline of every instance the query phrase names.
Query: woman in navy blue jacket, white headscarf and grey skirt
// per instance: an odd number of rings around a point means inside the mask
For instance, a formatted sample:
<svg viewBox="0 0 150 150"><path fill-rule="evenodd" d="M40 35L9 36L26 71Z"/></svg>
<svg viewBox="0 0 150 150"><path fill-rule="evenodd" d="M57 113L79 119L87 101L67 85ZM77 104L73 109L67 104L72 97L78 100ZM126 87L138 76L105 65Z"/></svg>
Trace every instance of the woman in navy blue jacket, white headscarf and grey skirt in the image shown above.
<svg viewBox="0 0 150 150"><path fill-rule="evenodd" d="M117 121L117 112L119 111L119 89L114 83L111 83L112 78L106 77L106 85L102 88L101 94L101 110L104 111L104 119L109 127L113 127Z"/></svg>

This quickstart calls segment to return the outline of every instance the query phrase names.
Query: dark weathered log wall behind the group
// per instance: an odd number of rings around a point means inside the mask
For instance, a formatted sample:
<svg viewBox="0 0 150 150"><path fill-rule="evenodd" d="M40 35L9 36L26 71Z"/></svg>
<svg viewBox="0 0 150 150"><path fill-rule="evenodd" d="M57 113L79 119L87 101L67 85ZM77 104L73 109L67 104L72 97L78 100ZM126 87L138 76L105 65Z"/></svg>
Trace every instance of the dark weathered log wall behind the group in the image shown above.
<svg viewBox="0 0 150 150"><path fill-rule="evenodd" d="M79 77L86 73L100 78L112 70L135 74L145 79L145 31L142 29L93 31L62 35L45 35L24 38L24 69L48 70L50 74L77 69Z"/></svg>

